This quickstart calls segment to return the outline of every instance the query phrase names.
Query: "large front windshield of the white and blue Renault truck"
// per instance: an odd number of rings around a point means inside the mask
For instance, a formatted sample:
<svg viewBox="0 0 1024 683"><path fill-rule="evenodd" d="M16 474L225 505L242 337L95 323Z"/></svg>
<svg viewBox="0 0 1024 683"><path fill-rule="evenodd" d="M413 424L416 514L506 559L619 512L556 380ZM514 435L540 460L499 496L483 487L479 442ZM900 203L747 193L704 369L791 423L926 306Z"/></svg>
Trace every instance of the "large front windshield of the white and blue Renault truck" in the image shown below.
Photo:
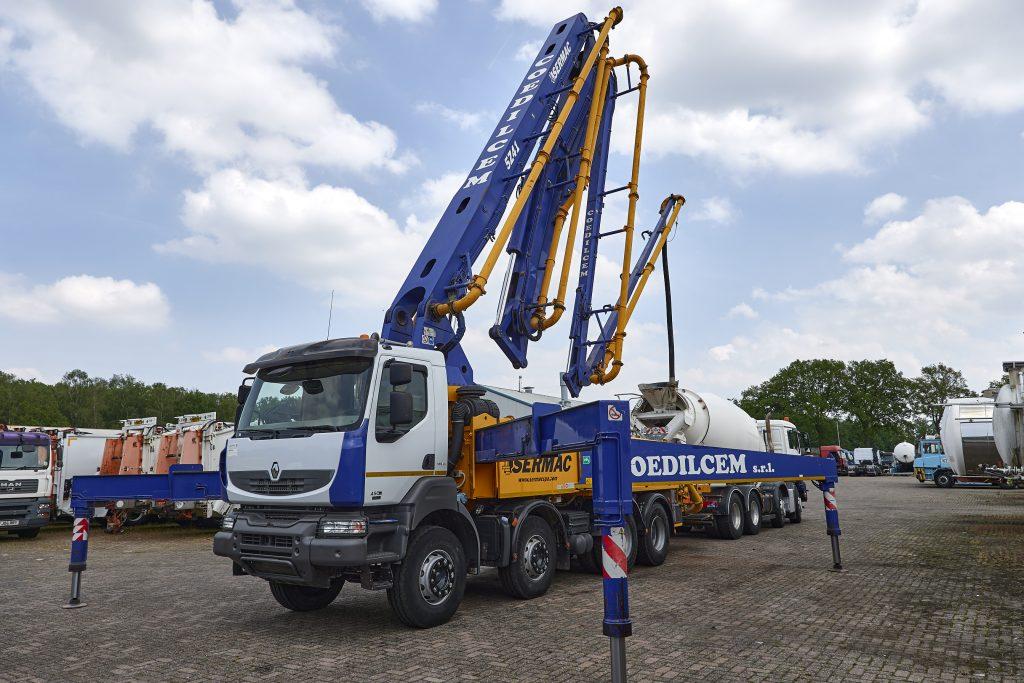
<svg viewBox="0 0 1024 683"><path fill-rule="evenodd" d="M239 419L239 434L344 431L362 422L373 358L334 358L261 370Z"/></svg>

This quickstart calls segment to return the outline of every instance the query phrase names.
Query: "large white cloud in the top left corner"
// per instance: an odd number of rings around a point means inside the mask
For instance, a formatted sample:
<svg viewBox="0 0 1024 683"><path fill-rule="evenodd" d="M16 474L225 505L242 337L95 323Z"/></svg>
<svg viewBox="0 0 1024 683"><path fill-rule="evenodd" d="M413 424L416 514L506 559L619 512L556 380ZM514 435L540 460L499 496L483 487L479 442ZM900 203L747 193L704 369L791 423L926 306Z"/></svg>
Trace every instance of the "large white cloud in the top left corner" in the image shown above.
<svg viewBox="0 0 1024 683"><path fill-rule="evenodd" d="M400 171L394 133L343 112L306 65L336 57L340 31L291 2L7 3L15 71L83 139L128 150L156 131L209 172L243 165ZM0 43L2 44L2 43Z"/></svg>

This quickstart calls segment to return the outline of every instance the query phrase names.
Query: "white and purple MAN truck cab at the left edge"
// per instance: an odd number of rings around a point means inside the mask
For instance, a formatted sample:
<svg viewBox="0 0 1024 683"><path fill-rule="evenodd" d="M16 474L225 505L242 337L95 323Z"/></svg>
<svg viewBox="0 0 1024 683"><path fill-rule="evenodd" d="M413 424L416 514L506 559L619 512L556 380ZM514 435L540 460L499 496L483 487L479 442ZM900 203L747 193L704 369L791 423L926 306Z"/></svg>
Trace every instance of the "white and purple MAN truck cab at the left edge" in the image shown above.
<svg viewBox="0 0 1024 683"><path fill-rule="evenodd" d="M49 434L0 431L0 532L39 536L50 521L52 492Z"/></svg>

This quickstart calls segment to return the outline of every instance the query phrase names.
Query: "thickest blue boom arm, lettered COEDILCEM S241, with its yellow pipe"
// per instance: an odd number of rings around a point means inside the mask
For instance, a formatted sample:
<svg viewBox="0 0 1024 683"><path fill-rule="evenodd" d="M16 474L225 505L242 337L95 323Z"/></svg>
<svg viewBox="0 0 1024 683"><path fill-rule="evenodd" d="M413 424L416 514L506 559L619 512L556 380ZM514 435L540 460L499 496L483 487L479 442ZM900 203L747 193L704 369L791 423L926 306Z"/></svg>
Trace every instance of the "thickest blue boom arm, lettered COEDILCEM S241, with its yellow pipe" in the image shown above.
<svg viewBox="0 0 1024 683"><path fill-rule="evenodd" d="M455 325L467 304L455 303L474 292L475 297L482 294L485 278L482 282L480 275L474 278L473 263L496 236L509 199L521 182L513 205L518 215L510 214L512 224L518 221L530 199L529 190L553 156L551 151L558 148L566 120L569 135L578 128L579 114L586 113L587 106L577 102L588 78L592 80L595 42L604 41L621 17L622 10L612 10L602 25L594 25L577 14L552 28L385 313L382 337L443 351L451 384L472 382L472 368L459 345L465 328ZM577 117L570 119L573 112ZM511 228L511 224L502 227L499 246L508 241ZM496 258L488 255L486 271Z"/></svg>

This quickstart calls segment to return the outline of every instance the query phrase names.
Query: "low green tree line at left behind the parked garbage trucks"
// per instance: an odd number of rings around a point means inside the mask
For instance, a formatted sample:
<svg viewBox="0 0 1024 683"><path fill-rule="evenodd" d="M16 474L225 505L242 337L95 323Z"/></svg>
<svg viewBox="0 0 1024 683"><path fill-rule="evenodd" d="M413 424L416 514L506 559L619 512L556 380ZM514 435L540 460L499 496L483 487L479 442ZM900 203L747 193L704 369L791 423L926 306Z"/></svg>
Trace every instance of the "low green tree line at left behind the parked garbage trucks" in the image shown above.
<svg viewBox="0 0 1024 683"><path fill-rule="evenodd" d="M73 370L46 384L0 372L0 423L9 425L117 429L127 418L156 416L157 424L166 424L179 415L213 412L233 420L234 407L233 393L146 384L131 375L104 379Z"/></svg>

